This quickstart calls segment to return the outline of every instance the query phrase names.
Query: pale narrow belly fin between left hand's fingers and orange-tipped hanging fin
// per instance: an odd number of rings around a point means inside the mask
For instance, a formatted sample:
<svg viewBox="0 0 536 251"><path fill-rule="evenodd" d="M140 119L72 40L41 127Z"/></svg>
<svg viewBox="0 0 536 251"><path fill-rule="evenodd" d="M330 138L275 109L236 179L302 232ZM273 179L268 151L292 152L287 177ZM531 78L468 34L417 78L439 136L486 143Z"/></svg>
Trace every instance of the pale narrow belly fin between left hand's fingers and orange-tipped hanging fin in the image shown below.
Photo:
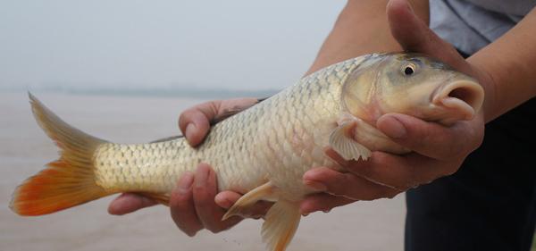
<svg viewBox="0 0 536 251"><path fill-rule="evenodd" d="M259 200L275 201L277 197L275 195L275 189L272 186L272 182L268 181L264 185L257 187L240 197L234 205L232 205L222 217L222 221L227 220L230 216L238 215L243 217L247 215L247 212L251 206L253 206Z"/></svg>

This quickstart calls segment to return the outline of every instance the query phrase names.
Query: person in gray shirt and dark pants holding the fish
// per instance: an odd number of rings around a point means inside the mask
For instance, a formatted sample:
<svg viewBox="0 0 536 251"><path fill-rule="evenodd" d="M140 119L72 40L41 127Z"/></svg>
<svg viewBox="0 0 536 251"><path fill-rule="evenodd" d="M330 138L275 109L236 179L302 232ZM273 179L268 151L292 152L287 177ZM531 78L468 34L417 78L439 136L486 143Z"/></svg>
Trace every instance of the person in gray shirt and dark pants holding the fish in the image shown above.
<svg viewBox="0 0 536 251"><path fill-rule="evenodd" d="M536 216L536 1L409 2L349 0L306 74L372 52L429 54L479 80L486 95L482 113L451 127L404 114L383 115L377 128L413 153L374 152L368 161L346 163L344 173L315 167L304 174L304 184L324 192L307 197L301 213L407 191L406 250L529 250ZM442 38L429 28L429 18ZM453 45L472 55L464 59ZM210 121L255 102L197 105L180 115L180 130L197 146ZM214 171L200 164L173 191L172 219L190 236L202 229L226 230L241 221L220 221L240 196L218 193ZM130 213L149 205L155 202L124 194L109 212ZM251 216L263 215L268 206L257 205Z"/></svg>

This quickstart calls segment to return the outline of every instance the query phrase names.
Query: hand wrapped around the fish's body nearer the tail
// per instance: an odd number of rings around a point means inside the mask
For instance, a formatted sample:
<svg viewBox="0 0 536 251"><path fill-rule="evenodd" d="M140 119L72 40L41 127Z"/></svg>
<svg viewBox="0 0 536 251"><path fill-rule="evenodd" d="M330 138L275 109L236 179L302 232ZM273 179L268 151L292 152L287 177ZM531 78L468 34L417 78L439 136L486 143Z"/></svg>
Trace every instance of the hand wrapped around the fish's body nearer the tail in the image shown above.
<svg viewBox="0 0 536 251"><path fill-rule="evenodd" d="M240 98L196 105L180 114L180 130L191 146L197 146L203 142L212 124L257 102L255 98ZM219 194L217 192L215 172L205 163L199 164L195 173L187 172L180 177L177 187L172 191L169 204L172 219L180 230L188 236L193 236L198 230L203 229L219 232L229 229L242 220L235 216L222 221L226 209L230 208L241 195L232 191L222 191ZM150 198L135 193L124 193L113 200L108 212L122 215L156 204ZM258 203L245 216L259 218L269 206L269 203Z"/></svg>

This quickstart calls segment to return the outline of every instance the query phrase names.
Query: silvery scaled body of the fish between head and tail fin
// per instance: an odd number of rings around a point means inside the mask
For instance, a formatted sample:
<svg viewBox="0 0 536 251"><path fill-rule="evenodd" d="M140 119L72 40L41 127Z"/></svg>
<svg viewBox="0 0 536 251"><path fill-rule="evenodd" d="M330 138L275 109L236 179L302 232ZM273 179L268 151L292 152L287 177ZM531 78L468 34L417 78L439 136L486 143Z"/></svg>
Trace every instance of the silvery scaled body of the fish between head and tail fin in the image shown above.
<svg viewBox="0 0 536 251"><path fill-rule="evenodd" d="M247 192L272 180L282 191L288 191L282 197L301 199L311 191L295 180L300 180L314 166L335 165L320 154L327 146L326 133L320 133L323 138L311 133L315 128L330 129L328 123L334 123L339 116L339 102L333 96L339 96L344 80L339 76L344 74L336 75L350 71L358 62L348 60L311 75L287 91L216 124L203 145L196 149L188 146L184 138L126 147L103 145L95 157L97 184L110 191L140 190L169 195L180 175L193 172L202 160L214 167L221 190ZM302 134L295 135L296 130ZM313 142L299 142L313 147L294 149L300 144L290 141L303 138L313 138ZM130 163L135 164L127 165L126 159L112 154L116 152L133 155Z"/></svg>

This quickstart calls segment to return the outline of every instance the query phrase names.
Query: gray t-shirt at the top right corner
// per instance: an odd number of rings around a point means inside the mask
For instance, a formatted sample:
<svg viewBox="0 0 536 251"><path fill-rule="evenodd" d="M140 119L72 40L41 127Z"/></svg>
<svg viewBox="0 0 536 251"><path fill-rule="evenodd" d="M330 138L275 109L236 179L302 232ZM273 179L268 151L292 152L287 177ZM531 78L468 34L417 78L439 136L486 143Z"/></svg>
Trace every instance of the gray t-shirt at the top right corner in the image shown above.
<svg viewBox="0 0 536 251"><path fill-rule="evenodd" d="M512 29L534 6L536 0L431 0L430 27L473 54Z"/></svg>

